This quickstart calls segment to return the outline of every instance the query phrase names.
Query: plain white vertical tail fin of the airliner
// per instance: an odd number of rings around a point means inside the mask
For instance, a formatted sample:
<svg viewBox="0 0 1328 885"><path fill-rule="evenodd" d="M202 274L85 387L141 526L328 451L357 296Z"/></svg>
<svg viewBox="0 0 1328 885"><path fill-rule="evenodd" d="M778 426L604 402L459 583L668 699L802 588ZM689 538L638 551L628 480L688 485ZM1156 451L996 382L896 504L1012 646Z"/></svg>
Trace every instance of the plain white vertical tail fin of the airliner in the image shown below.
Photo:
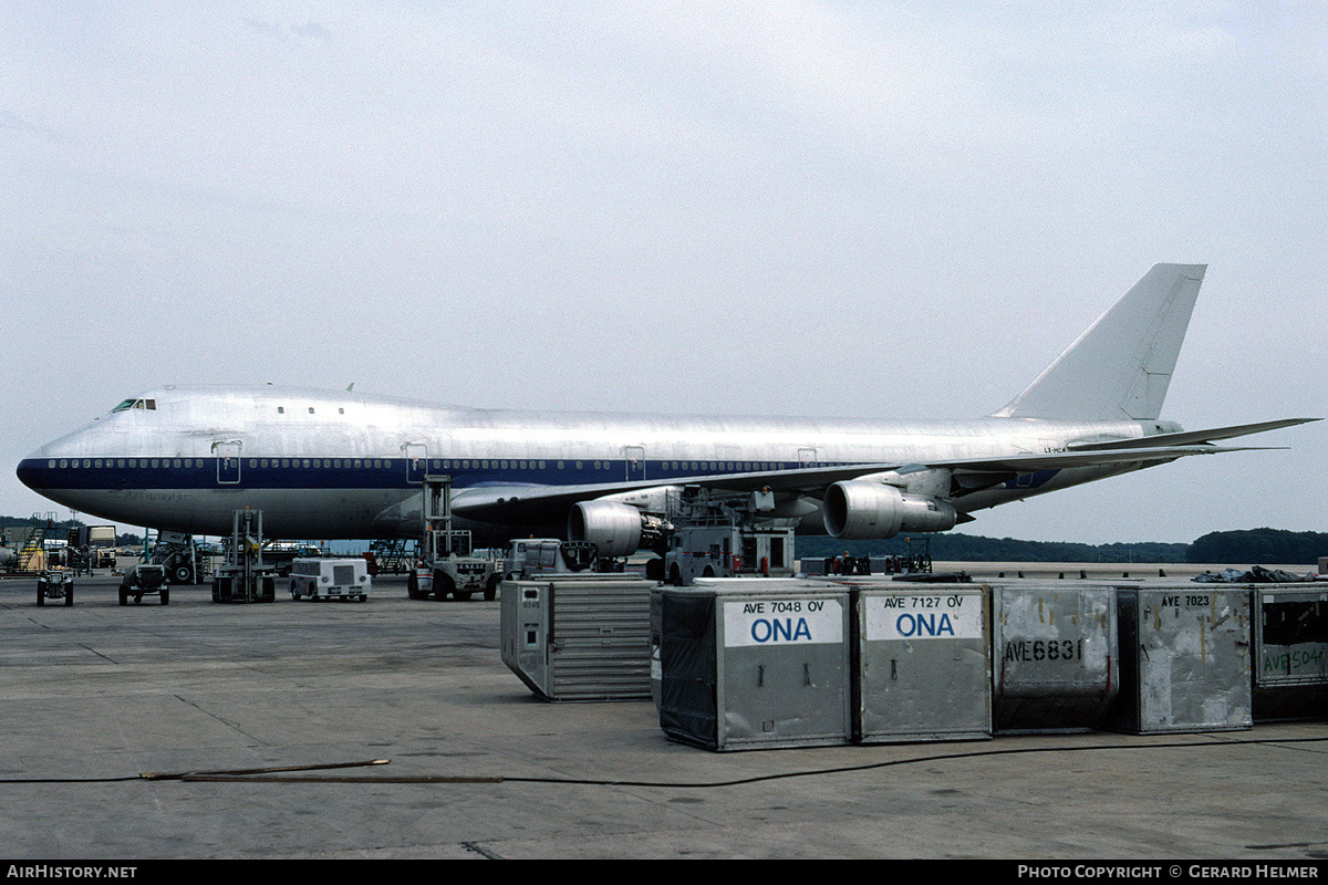
<svg viewBox="0 0 1328 885"><path fill-rule="evenodd" d="M1154 264L996 415L1157 419L1206 269L1206 264Z"/></svg>

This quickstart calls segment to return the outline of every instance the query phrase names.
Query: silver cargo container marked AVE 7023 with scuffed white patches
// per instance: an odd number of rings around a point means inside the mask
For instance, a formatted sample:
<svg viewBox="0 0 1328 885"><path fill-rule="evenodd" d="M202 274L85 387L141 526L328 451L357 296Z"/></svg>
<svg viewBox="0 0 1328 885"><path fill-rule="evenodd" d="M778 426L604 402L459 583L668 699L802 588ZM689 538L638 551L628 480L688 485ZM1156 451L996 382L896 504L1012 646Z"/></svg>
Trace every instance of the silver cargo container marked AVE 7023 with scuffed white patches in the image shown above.
<svg viewBox="0 0 1328 885"><path fill-rule="evenodd" d="M1254 726L1250 589L1118 586L1121 697L1109 726L1133 734Z"/></svg>

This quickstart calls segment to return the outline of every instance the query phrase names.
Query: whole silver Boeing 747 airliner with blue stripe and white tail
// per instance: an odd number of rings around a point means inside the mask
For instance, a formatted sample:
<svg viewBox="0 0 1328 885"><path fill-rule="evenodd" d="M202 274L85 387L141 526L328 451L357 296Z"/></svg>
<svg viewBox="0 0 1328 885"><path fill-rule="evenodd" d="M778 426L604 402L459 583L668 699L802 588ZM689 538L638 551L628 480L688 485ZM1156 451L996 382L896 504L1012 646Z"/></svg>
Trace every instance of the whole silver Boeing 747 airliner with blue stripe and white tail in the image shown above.
<svg viewBox="0 0 1328 885"><path fill-rule="evenodd" d="M1161 418L1206 265L1158 264L1032 385L950 422L505 411L287 387L165 386L19 464L73 510L224 535L262 510L276 537L412 537L421 480L452 478L457 528L635 552L671 491L770 490L799 531L883 539L1299 425L1185 431ZM645 535L643 535L643 532Z"/></svg>

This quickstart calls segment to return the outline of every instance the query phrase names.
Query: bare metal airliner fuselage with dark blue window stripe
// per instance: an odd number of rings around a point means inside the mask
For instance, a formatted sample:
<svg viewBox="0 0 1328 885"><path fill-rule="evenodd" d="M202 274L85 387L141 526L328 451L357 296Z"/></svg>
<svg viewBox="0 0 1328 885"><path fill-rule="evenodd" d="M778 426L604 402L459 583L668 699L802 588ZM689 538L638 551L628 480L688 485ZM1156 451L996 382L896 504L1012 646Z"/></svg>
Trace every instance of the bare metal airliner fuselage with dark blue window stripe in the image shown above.
<svg viewBox="0 0 1328 885"><path fill-rule="evenodd" d="M835 466L923 464L1064 451L1073 441L1139 438L1170 422L980 418L954 422L544 413L440 406L280 387L163 387L151 409L112 413L33 452L21 479L76 511L131 525L220 535L235 510L264 512L283 537L408 536L424 471L466 494L673 486L699 476ZM1155 462L1154 462L1155 463ZM955 500L961 513L1130 470L1116 463L1027 471ZM595 492L599 491L600 495ZM822 531L819 492L781 513ZM562 535L566 512L509 507L470 521L483 537ZM458 520L465 523L465 520Z"/></svg>

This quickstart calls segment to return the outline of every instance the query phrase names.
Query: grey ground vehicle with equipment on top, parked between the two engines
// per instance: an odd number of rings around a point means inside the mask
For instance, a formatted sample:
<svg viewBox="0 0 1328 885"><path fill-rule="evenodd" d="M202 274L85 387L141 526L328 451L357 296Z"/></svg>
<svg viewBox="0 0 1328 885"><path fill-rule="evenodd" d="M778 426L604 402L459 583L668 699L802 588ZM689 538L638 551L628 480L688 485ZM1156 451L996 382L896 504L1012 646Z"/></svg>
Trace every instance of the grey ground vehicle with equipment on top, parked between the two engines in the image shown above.
<svg viewBox="0 0 1328 885"><path fill-rule="evenodd" d="M791 577L798 520L772 517L773 510L774 496L765 491L732 496L688 486L671 494L665 580L687 586L697 577Z"/></svg>

